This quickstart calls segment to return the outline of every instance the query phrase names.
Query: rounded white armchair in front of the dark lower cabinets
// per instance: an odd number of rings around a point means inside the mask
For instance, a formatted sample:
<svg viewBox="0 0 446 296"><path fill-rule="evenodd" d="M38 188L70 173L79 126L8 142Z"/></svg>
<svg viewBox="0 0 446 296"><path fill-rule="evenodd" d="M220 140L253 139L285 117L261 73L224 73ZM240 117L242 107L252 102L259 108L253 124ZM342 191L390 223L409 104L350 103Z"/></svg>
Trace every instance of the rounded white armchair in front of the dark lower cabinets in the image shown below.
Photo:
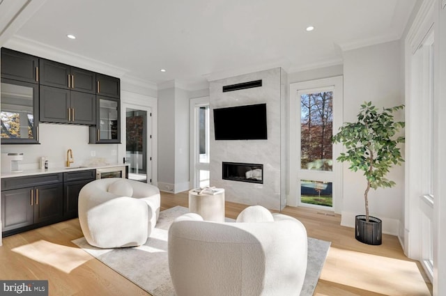
<svg viewBox="0 0 446 296"><path fill-rule="evenodd" d="M123 178L94 180L79 192L79 223L94 247L144 244L160 216L160 190Z"/></svg>

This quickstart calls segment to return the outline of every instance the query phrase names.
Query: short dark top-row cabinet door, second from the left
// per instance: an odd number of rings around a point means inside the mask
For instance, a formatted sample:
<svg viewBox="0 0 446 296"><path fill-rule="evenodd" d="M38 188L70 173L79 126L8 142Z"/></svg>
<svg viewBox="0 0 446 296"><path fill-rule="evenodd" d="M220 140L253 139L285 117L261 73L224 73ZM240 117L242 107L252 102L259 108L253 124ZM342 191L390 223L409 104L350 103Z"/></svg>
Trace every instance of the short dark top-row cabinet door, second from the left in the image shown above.
<svg viewBox="0 0 446 296"><path fill-rule="evenodd" d="M71 84L70 66L40 59L40 85L68 88Z"/></svg>

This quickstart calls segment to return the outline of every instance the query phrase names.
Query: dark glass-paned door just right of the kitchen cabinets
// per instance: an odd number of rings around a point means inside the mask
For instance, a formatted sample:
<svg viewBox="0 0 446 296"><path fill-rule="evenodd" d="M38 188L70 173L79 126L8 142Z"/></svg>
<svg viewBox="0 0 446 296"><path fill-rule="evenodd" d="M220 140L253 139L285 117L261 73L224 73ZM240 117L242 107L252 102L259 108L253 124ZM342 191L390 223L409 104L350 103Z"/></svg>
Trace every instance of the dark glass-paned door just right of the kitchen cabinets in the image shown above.
<svg viewBox="0 0 446 296"><path fill-rule="evenodd" d="M125 161L128 178L147 182L147 111L125 109Z"/></svg>

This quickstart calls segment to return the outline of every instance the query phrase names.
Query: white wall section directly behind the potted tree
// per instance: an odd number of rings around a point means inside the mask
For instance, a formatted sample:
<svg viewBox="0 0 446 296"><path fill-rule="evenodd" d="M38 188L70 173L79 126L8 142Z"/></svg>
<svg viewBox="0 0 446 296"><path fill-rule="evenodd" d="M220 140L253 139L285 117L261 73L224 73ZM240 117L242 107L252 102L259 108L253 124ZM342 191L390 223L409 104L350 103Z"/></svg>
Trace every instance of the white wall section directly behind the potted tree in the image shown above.
<svg viewBox="0 0 446 296"><path fill-rule="evenodd" d="M356 120L360 104L372 101L376 107L403 104L401 86L401 45L399 40L344 52L344 121ZM397 119L403 119L403 112ZM404 156L404 155L403 155ZM366 182L344 164L344 205L341 225L354 226L354 216L364 214ZM397 183L390 189L369 192L371 215L383 219L383 232L398 235L404 196L404 167L388 174Z"/></svg>

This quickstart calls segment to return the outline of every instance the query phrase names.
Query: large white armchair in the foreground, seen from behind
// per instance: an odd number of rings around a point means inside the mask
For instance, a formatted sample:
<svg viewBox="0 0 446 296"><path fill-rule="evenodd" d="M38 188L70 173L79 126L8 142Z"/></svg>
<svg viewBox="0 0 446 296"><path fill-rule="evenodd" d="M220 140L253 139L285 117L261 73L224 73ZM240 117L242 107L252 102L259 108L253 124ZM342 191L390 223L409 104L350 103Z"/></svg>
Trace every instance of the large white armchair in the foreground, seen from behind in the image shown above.
<svg viewBox="0 0 446 296"><path fill-rule="evenodd" d="M300 295L307 270L305 226L257 205L237 222L194 213L169 228L169 271L177 296Z"/></svg>

